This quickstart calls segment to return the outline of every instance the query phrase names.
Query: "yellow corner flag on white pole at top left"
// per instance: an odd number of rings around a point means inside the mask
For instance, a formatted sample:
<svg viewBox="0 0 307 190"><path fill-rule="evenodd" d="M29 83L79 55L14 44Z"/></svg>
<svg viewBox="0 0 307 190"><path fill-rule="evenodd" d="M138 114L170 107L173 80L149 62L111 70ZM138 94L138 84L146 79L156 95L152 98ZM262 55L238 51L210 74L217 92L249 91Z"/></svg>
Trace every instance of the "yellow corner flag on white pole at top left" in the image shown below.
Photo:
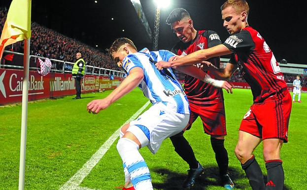
<svg viewBox="0 0 307 190"><path fill-rule="evenodd" d="M0 38L0 59L5 46L31 38L31 0L12 0Z"/></svg>

